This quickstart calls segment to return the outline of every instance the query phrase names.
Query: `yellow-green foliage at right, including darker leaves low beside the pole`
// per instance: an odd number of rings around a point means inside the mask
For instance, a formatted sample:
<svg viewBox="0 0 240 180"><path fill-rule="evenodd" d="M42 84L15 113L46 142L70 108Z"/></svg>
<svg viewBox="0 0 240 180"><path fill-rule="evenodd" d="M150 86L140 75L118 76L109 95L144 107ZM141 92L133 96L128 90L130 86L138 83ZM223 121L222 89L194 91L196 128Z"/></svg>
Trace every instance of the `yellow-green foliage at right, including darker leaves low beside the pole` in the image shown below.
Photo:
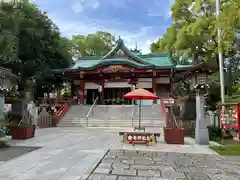
<svg viewBox="0 0 240 180"><path fill-rule="evenodd" d="M168 53L177 64L205 60L218 68L218 50L223 50L225 85L231 95L240 78L240 1L221 0L220 16L216 17L216 0L175 0L172 6L173 23L164 35L151 45L152 52ZM221 43L218 44L218 27ZM209 102L219 100L219 75L211 77ZM234 89L234 88L233 88ZM210 103L211 104L211 103ZM212 104L213 105L213 104Z"/></svg>

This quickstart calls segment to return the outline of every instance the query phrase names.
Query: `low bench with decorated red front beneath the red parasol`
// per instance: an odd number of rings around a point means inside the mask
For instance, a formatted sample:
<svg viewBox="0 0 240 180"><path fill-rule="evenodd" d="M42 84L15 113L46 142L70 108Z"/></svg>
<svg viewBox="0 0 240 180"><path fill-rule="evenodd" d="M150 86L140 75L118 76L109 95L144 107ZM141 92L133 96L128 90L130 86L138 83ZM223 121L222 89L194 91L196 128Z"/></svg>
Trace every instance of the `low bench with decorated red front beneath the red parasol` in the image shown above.
<svg viewBox="0 0 240 180"><path fill-rule="evenodd" d="M146 131L132 131L132 132L119 132L120 136L123 136L123 142L127 144L156 144L157 137L160 137L160 133L151 133Z"/></svg>

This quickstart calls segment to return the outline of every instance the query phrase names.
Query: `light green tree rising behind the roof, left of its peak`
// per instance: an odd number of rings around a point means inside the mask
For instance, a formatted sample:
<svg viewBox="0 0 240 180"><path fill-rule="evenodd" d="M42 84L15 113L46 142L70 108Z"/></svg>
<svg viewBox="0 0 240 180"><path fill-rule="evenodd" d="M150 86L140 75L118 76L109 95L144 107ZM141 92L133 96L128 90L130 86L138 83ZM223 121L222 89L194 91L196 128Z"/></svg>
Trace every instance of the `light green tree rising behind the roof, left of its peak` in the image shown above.
<svg viewBox="0 0 240 180"><path fill-rule="evenodd" d="M115 37L108 32L97 31L93 34L72 37L73 53L80 56L103 56L115 43Z"/></svg>

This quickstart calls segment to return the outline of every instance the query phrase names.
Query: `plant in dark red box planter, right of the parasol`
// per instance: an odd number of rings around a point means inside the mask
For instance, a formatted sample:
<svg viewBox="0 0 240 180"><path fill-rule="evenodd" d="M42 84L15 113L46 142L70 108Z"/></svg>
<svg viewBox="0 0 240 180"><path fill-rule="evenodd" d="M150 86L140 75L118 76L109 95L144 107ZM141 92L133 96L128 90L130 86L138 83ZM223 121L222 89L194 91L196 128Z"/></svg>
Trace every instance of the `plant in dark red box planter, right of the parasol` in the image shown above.
<svg viewBox="0 0 240 180"><path fill-rule="evenodd" d="M184 128L180 128L174 112L179 111L176 104L168 107L168 119L164 127L164 140L167 144L184 144Z"/></svg>

